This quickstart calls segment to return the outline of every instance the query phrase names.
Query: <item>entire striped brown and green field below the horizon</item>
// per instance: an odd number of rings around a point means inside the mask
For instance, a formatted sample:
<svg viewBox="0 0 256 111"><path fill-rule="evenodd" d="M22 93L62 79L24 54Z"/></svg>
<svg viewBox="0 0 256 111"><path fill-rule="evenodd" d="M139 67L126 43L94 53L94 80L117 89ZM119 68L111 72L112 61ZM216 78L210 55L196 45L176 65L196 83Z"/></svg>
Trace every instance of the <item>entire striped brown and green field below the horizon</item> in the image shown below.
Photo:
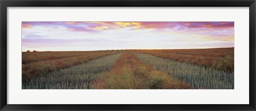
<svg viewBox="0 0 256 111"><path fill-rule="evenodd" d="M234 47L22 52L22 89L234 89Z"/></svg>

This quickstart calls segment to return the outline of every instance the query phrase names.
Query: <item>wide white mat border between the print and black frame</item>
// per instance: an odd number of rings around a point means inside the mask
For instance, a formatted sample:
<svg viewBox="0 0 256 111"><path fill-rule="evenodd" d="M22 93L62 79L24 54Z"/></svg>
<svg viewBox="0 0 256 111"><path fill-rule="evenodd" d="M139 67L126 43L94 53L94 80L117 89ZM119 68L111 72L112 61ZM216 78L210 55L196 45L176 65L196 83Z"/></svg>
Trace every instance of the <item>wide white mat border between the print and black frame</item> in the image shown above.
<svg viewBox="0 0 256 111"><path fill-rule="evenodd" d="M21 21L235 21L234 90L21 90ZM7 104L249 104L249 7L8 7Z"/></svg>

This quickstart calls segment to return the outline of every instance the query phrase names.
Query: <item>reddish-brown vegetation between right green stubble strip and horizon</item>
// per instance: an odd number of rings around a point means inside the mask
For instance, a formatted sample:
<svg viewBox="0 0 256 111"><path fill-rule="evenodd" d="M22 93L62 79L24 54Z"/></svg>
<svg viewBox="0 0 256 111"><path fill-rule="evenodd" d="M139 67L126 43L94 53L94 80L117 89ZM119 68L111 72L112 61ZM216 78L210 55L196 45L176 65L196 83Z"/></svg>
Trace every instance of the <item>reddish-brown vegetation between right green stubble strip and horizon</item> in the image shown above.
<svg viewBox="0 0 256 111"><path fill-rule="evenodd" d="M161 49L161 50L134 50L136 53L144 53L185 62L217 70L234 72L234 47L212 49Z"/></svg>

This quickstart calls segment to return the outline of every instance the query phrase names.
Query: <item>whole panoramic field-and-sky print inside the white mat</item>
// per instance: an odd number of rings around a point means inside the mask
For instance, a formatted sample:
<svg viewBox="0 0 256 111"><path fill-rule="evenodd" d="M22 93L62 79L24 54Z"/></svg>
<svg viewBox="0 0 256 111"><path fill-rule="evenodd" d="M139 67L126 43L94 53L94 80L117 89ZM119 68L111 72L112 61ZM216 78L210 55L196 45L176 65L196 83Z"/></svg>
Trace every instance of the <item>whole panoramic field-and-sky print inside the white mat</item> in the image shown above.
<svg viewBox="0 0 256 111"><path fill-rule="evenodd" d="M234 22L22 22L22 89L234 89Z"/></svg>

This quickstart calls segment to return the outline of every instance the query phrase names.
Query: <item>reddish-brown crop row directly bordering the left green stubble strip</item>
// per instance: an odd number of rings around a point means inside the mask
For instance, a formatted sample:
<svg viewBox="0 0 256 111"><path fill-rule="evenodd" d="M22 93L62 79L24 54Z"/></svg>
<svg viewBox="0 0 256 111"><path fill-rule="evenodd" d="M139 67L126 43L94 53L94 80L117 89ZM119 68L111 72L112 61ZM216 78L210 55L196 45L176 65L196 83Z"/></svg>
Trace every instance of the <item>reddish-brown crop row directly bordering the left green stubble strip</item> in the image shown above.
<svg viewBox="0 0 256 111"><path fill-rule="evenodd" d="M33 77L50 73L54 70L59 70L59 69L73 66L73 65L82 64L92 59L96 59L99 57L112 55L116 53L118 53L118 50L111 50L109 52L92 53L89 55L81 55L81 56L75 56L75 57L22 64L22 80L26 82L27 80Z"/></svg>

